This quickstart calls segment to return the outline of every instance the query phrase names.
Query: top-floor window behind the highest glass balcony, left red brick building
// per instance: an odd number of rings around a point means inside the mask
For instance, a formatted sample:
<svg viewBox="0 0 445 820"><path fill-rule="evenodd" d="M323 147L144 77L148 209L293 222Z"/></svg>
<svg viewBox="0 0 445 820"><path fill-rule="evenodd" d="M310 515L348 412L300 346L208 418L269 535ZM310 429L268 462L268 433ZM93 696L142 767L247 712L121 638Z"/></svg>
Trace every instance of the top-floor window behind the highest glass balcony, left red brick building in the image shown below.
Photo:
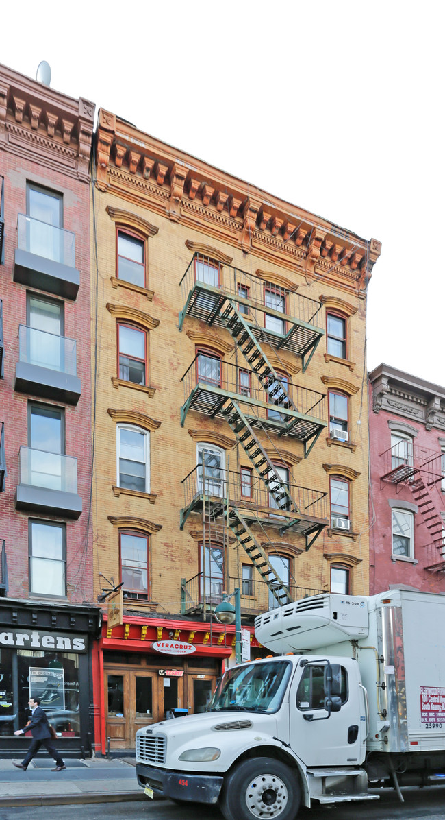
<svg viewBox="0 0 445 820"><path fill-rule="evenodd" d="M37 185L26 186L26 250L53 262L65 262L63 198Z"/></svg>

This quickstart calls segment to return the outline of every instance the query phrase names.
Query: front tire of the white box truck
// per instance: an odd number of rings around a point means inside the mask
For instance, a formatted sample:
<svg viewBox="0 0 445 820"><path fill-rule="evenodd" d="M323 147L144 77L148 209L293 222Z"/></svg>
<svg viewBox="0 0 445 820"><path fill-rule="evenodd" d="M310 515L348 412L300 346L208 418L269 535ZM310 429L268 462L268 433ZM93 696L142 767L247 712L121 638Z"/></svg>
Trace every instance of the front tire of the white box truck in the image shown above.
<svg viewBox="0 0 445 820"><path fill-rule="evenodd" d="M293 820L300 808L296 774L274 758L243 760L225 781L220 809L225 820Z"/></svg>

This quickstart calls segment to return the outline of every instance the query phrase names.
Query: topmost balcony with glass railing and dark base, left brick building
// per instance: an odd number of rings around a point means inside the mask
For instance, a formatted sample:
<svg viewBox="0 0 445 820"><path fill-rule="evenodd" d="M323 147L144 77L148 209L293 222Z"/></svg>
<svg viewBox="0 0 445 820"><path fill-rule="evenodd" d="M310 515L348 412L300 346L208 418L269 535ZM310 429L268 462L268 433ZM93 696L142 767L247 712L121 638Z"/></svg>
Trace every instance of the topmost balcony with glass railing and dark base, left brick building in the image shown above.
<svg viewBox="0 0 445 820"><path fill-rule="evenodd" d="M75 299L80 284L75 235L22 213L17 218L17 234L14 281Z"/></svg>

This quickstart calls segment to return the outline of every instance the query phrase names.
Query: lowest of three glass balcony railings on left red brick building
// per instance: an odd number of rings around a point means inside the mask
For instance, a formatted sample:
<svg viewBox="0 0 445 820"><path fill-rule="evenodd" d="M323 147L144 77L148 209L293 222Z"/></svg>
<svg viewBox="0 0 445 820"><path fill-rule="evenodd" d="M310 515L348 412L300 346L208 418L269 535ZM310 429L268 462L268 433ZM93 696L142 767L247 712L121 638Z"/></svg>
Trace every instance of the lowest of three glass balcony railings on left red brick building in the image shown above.
<svg viewBox="0 0 445 820"><path fill-rule="evenodd" d="M20 447L20 484L77 493L77 458Z"/></svg>

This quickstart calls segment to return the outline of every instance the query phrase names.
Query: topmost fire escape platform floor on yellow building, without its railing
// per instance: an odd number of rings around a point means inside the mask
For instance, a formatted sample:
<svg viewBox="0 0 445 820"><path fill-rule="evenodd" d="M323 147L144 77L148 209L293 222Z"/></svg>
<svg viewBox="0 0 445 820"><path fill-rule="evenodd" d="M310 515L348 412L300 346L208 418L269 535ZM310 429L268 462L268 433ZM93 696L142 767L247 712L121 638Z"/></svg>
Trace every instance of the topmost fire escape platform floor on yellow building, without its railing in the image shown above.
<svg viewBox="0 0 445 820"><path fill-rule="evenodd" d="M297 356L305 357L315 350L320 339L325 335L325 330L311 322L303 321L297 317L289 316L267 307L263 303L256 302L248 298L234 296L230 291L225 292L214 285L204 285L202 282L195 282L188 294L183 310L179 313L179 330L182 329L185 316L192 316L208 325L225 327L225 321L221 317L221 310L225 301L233 300L245 307L266 312L267 316L274 317L279 321L284 321L287 326L286 333L281 335L266 327L258 328L252 323L252 334L259 337L267 337L270 344L275 348L285 348L296 353ZM245 317L248 321L248 317Z"/></svg>

